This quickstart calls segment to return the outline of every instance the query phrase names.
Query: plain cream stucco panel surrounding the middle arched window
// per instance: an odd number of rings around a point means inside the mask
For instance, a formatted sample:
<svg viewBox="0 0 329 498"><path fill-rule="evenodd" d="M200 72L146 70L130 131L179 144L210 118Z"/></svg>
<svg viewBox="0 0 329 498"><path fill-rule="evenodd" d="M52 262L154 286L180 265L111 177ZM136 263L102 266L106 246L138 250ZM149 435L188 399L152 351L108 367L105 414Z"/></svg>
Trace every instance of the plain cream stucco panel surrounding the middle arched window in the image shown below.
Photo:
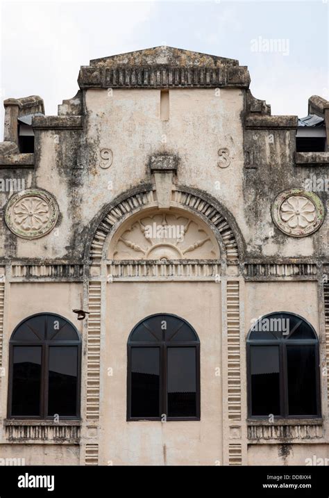
<svg viewBox="0 0 329 498"><path fill-rule="evenodd" d="M101 361L102 465L215 465L222 461L220 286L212 282L108 284ZM138 321L177 314L201 342L201 420L126 421L127 341ZM112 376L108 376L112 368Z"/></svg>

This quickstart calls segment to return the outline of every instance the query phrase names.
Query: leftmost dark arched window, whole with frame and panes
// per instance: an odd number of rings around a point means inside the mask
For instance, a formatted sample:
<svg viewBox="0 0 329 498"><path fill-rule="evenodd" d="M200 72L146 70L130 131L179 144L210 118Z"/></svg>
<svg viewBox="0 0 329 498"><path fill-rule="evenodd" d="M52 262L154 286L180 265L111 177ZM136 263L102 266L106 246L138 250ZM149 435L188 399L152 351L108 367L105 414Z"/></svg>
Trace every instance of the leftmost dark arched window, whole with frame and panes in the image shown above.
<svg viewBox="0 0 329 498"><path fill-rule="evenodd" d="M8 417L79 417L80 361L71 322L53 313L24 319L10 338Z"/></svg>

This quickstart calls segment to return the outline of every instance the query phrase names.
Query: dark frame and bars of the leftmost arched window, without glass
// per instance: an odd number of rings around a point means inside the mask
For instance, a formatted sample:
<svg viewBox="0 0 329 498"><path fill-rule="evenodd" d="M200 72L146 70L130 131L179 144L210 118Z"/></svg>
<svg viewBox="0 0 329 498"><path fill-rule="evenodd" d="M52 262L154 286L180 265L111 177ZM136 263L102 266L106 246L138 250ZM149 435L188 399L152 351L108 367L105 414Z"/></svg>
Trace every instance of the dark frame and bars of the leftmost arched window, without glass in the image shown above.
<svg viewBox="0 0 329 498"><path fill-rule="evenodd" d="M15 340L15 332L20 326L29 319L35 316L55 316L69 323L71 327L76 331L78 336L77 340L69 341L57 341L51 339L40 339L40 340ZM41 348L41 381L40 381L40 415L12 415L12 387L13 387L13 374L14 374L14 347L15 346L39 346ZM73 346L78 350L77 354L77 376L76 376L76 415L59 415L61 420L81 420L81 335L71 321L67 320L65 316L57 313L35 313L27 316L25 319L20 321L18 325L12 332L9 339L9 379L8 379L8 402L7 402L7 419L14 420L53 420L53 415L46 415L48 412L48 398L49 398L49 347L50 346Z"/></svg>

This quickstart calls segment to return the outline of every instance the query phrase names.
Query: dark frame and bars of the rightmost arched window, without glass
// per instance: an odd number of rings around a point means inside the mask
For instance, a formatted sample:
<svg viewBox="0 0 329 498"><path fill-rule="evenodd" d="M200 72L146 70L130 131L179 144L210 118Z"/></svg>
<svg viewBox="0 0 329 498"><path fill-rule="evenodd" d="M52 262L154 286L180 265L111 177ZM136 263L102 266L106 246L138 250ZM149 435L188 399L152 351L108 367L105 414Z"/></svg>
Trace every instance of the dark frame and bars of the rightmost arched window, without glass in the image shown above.
<svg viewBox="0 0 329 498"><path fill-rule="evenodd" d="M277 346L279 348L279 389L280 389L280 415L274 415L275 420L296 420L296 419L321 419L321 376L320 376L320 342L319 336L312 324L307 321L303 316L292 313L292 312L271 312L262 315L261 319L270 317L276 314L287 314L291 316L296 316L298 319L303 320L307 323L313 333L314 339L289 339L290 334L287 337L280 337L280 339L267 340L267 339L249 339L251 332L249 330L246 338L246 370L247 370L247 408L248 408L248 419L250 420L268 420L268 415L252 415L252 392L251 392L251 346ZM260 321L260 320L258 320ZM257 323L257 322L256 322ZM288 367L287 367L287 346L314 346L314 362L315 362L315 396L316 396L316 406L317 415L288 415L289 413L289 399L288 399Z"/></svg>

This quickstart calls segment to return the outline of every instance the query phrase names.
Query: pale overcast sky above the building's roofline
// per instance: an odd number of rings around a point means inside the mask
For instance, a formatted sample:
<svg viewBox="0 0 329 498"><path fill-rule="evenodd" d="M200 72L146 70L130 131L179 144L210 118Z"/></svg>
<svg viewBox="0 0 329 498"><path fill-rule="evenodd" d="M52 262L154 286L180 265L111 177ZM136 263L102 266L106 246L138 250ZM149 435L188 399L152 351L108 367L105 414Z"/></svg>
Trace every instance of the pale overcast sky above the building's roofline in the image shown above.
<svg viewBox="0 0 329 498"><path fill-rule="evenodd" d="M310 95L329 99L329 0L0 0L0 8L1 101L40 95L47 114L76 94L90 59L157 45L237 58L272 114L302 117ZM266 51L271 40L281 51Z"/></svg>

